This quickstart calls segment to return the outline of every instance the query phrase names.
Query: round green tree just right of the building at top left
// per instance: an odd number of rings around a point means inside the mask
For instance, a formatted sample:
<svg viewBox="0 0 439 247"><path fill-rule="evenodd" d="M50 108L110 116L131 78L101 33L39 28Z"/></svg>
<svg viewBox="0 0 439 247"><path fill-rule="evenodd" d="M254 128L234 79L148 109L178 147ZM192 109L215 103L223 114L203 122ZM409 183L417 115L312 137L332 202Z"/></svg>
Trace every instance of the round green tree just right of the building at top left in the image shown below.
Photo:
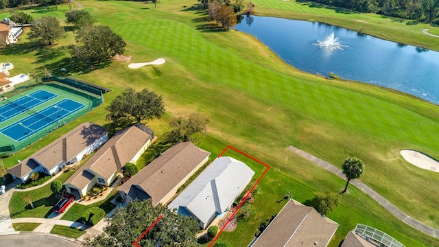
<svg viewBox="0 0 439 247"><path fill-rule="evenodd" d="M64 29L54 16L43 16L36 19L30 27L28 37L42 45L52 45L55 40L64 36Z"/></svg>

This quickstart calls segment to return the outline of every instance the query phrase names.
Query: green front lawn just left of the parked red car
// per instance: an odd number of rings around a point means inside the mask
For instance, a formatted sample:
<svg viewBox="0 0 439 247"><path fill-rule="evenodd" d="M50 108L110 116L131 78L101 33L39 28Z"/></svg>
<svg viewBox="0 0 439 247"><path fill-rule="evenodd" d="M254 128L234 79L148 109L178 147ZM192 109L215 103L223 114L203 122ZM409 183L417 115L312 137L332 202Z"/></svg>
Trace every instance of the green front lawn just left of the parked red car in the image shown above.
<svg viewBox="0 0 439 247"><path fill-rule="evenodd" d="M62 183L64 183L69 176L73 174L73 170L64 172L58 177ZM29 203L25 202L23 198L27 195L32 196L32 203L34 209L32 209ZM19 217L47 217L51 214L54 206L58 202L58 198L50 190L50 183L32 191L14 192L9 202L9 212L12 218Z"/></svg>

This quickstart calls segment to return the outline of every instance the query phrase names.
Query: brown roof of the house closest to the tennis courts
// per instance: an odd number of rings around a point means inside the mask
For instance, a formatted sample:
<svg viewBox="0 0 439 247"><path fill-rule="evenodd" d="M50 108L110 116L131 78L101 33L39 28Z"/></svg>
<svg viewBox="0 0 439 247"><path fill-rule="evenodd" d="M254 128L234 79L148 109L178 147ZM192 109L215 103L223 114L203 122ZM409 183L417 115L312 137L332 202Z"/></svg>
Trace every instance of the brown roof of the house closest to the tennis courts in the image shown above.
<svg viewBox="0 0 439 247"><path fill-rule="evenodd" d="M36 167L29 161L31 159L38 161L38 163L47 169L52 169L62 161L70 161L105 134L107 134L107 131L102 126L90 122L81 124L51 142L49 145L41 148L38 152L32 154L32 156L26 158L18 165L8 169L8 173L21 178L29 172L32 172Z"/></svg>

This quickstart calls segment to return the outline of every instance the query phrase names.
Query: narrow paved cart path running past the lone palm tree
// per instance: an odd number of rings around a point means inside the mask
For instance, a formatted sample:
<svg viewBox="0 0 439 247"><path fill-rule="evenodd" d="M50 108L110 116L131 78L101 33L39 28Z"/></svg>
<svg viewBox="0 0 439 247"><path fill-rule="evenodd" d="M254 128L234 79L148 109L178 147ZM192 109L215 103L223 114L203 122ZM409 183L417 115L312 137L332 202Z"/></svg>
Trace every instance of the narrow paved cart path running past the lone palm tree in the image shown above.
<svg viewBox="0 0 439 247"><path fill-rule="evenodd" d="M338 169L334 165L331 165L330 163L327 163L326 161L323 161L320 158L317 158L316 156L313 156L312 154L309 154L303 150L300 150L298 148L295 148L293 146L289 146L287 150L294 152L298 156L301 156L302 158L306 158L308 161L311 161L312 163L315 163L316 165L319 165L320 167L323 167L324 169L327 169L329 172L332 172L333 174L340 176L340 178L346 179L346 176L344 176L341 169ZM364 183L361 183L359 180L351 180L351 184L355 185L365 193L367 193L371 198L376 200L381 206L383 206L384 209L389 211L390 213L393 213L396 217L399 217L400 220L407 223L408 225L418 229L419 231L426 233L433 237L439 238L439 230L436 228L433 228L431 226L427 226L421 222L418 222L417 220L414 220L410 216L403 213L403 211L399 210L397 207L394 206L394 204L390 203L388 200L383 198L383 196L379 195L376 191L373 189L370 189L367 185Z"/></svg>

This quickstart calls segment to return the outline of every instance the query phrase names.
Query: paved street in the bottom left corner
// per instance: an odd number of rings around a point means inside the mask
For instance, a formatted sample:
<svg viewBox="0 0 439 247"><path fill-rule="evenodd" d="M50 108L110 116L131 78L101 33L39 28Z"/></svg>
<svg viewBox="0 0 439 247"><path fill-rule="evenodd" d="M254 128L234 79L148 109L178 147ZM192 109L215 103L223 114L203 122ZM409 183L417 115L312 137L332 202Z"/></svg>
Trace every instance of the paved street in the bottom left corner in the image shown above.
<svg viewBox="0 0 439 247"><path fill-rule="evenodd" d="M26 246L26 247L82 247L82 244L74 242L75 239L60 237L58 235L39 234L14 234L0 235L1 246Z"/></svg>

